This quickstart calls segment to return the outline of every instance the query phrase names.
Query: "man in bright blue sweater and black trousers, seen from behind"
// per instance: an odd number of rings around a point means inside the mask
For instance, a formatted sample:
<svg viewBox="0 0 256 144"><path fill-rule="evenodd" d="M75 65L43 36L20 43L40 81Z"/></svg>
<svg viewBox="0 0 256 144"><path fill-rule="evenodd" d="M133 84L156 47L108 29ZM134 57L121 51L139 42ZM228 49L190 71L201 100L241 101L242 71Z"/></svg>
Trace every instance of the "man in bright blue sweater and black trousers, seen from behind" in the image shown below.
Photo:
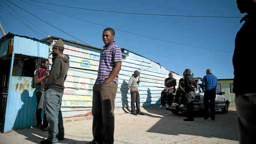
<svg viewBox="0 0 256 144"><path fill-rule="evenodd" d="M204 86L204 120L208 119L208 101L211 108L211 118L215 120L215 97L217 88L217 77L212 75L212 70L206 70L206 76L203 78L202 85Z"/></svg>

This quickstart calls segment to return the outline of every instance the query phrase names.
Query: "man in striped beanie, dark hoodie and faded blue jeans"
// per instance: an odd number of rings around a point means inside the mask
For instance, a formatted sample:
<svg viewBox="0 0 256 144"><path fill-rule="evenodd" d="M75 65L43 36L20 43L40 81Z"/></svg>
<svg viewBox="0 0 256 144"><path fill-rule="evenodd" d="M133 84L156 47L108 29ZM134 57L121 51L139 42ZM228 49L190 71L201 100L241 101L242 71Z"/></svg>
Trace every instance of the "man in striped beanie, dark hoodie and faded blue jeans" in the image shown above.
<svg viewBox="0 0 256 144"><path fill-rule="evenodd" d="M60 110L64 91L64 82L69 68L69 57L63 54L63 41L59 39L52 46L52 68L47 83L45 84L45 109L49 123L47 140L41 144L57 143L64 139L64 127Z"/></svg>

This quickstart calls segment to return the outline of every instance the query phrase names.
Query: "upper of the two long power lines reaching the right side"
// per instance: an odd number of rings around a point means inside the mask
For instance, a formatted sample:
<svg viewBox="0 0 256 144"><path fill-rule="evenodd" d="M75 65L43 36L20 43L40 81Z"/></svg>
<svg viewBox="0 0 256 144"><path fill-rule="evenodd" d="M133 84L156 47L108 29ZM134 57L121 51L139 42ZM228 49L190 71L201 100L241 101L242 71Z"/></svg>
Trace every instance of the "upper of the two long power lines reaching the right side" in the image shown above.
<svg viewBox="0 0 256 144"><path fill-rule="evenodd" d="M55 6L60 6L60 7L68 7L68 8L74 8L74 9L81 9L81 10L98 11L98 12L113 12L113 13L137 14L137 15L174 16L174 17L243 18L243 17L228 17L228 16L192 16L192 15L169 15L169 14L151 14L151 13L133 13L133 12L104 11L104 10L96 10L96 9L88 9L88 8L79 8L79 7L58 5L58 4L50 4L50 3L38 2L38 1L34 1L34 0L28 0L28 1L36 2L36 3L42 3L42 4L55 5Z"/></svg>

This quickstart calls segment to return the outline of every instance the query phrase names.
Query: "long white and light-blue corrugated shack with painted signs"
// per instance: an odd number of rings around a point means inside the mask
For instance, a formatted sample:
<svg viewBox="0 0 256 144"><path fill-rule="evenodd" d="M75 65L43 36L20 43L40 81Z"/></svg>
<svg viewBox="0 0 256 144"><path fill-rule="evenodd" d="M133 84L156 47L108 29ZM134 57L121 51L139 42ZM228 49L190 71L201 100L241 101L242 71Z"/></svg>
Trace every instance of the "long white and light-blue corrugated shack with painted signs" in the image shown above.
<svg viewBox="0 0 256 144"><path fill-rule="evenodd" d="M64 83L62 115L63 117L92 115L92 87L97 78L100 51L103 48L51 36L42 39L42 41L50 43L49 53L52 52L52 45L58 39L63 40L64 53L70 57L70 68ZM159 106L160 94L164 89L164 79L168 77L170 71L158 63L129 50L122 49L122 52L123 62L122 69L119 72L115 107L131 106L128 81L134 70L140 72L140 106ZM52 63L51 58L50 56L50 64ZM182 76L173 73L173 77L176 78L178 87L179 79Z"/></svg>

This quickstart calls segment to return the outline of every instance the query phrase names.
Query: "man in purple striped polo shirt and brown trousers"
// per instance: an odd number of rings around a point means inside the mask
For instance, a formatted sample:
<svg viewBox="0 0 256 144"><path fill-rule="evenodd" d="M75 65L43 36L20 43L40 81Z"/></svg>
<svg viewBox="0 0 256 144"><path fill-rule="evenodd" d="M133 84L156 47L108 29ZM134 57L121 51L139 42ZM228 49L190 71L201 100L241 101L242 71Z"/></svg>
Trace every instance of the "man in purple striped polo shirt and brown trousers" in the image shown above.
<svg viewBox="0 0 256 144"><path fill-rule="evenodd" d="M104 42L100 52L98 78L93 85L92 98L92 134L88 144L114 143L114 107L118 86L118 73L121 70L122 52L113 41L115 31L106 28L102 34Z"/></svg>

